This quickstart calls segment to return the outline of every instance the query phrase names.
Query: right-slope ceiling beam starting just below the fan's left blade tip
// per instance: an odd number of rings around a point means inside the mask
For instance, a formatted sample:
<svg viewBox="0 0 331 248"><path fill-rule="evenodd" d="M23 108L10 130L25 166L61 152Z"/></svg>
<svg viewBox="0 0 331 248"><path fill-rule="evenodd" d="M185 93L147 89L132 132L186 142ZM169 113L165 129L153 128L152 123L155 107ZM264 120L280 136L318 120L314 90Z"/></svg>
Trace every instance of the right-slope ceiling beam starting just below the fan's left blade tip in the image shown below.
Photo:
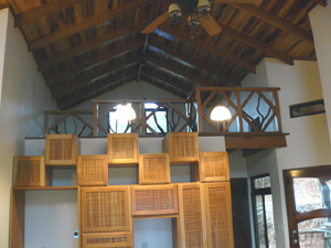
<svg viewBox="0 0 331 248"><path fill-rule="evenodd" d="M162 30L166 33L169 33L170 35L173 35L184 42L195 45L196 47L204 50L209 53L215 54L214 46L211 44L207 44L200 40L191 39L189 34L182 33L174 28L167 26L166 24L161 24L159 28L160 28L160 30ZM249 62L247 62L243 58L236 57L226 51L221 51L220 48L216 47L216 55L218 57L227 60L228 62L231 62L237 66L241 66L252 73L256 73L254 64L250 64Z"/></svg>

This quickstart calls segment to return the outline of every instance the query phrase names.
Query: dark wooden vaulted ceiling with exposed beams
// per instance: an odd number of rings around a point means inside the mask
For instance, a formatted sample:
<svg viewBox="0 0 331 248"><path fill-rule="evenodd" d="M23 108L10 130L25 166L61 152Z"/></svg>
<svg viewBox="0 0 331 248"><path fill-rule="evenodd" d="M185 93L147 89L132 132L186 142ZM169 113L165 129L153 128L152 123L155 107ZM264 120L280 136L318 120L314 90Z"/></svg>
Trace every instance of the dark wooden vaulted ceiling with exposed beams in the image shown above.
<svg viewBox="0 0 331 248"><path fill-rule="evenodd" d="M125 2L124 2L125 1ZM264 57L316 60L308 13L325 0L213 4L222 32L191 39L185 22L141 30L173 0L0 0L10 7L38 69L62 109L127 82L145 80L182 98L195 86L241 86ZM216 73L217 68L217 73ZM125 79L124 79L125 78Z"/></svg>

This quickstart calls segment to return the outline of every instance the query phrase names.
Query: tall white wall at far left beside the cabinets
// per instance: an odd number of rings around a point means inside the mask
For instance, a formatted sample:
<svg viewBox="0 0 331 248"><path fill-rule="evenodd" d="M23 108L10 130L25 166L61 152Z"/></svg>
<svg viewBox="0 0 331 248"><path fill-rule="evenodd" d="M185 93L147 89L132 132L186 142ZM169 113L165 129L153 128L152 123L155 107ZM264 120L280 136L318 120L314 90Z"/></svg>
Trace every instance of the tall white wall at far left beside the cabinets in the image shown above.
<svg viewBox="0 0 331 248"><path fill-rule="evenodd" d="M0 77L0 247L8 247L13 155L24 154L26 136L43 133L43 111L55 109L44 78L38 73L32 54L28 53L26 42L20 30L13 29L13 23L10 11L1 10L0 51L6 37L6 53L3 56L0 52L0 65L3 64L0 67L0 73L3 72Z"/></svg>

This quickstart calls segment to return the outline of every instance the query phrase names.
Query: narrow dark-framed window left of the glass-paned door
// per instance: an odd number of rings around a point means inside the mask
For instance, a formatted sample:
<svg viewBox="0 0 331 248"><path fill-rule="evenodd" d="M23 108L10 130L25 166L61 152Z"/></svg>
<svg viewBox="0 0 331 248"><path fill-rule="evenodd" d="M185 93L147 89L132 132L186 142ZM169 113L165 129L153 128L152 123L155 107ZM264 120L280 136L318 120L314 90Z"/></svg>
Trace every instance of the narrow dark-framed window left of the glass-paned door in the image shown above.
<svg viewBox="0 0 331 248"><path fill-rule="evenodd" d="M276 248L270 176L252 177L254 227L257 248Z"/></svg>

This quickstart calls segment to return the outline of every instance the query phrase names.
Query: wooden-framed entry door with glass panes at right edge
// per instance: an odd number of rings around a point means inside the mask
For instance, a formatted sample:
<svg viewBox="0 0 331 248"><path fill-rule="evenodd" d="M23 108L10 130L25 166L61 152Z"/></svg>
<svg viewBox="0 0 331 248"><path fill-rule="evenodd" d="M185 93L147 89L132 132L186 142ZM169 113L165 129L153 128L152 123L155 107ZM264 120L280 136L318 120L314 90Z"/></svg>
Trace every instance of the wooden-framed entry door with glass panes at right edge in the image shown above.
<svg viewBox="0 0 331 248"><path fill-rule="evenodd" d="M291 248L331 247L331 166L284 171Z"/></svg>

